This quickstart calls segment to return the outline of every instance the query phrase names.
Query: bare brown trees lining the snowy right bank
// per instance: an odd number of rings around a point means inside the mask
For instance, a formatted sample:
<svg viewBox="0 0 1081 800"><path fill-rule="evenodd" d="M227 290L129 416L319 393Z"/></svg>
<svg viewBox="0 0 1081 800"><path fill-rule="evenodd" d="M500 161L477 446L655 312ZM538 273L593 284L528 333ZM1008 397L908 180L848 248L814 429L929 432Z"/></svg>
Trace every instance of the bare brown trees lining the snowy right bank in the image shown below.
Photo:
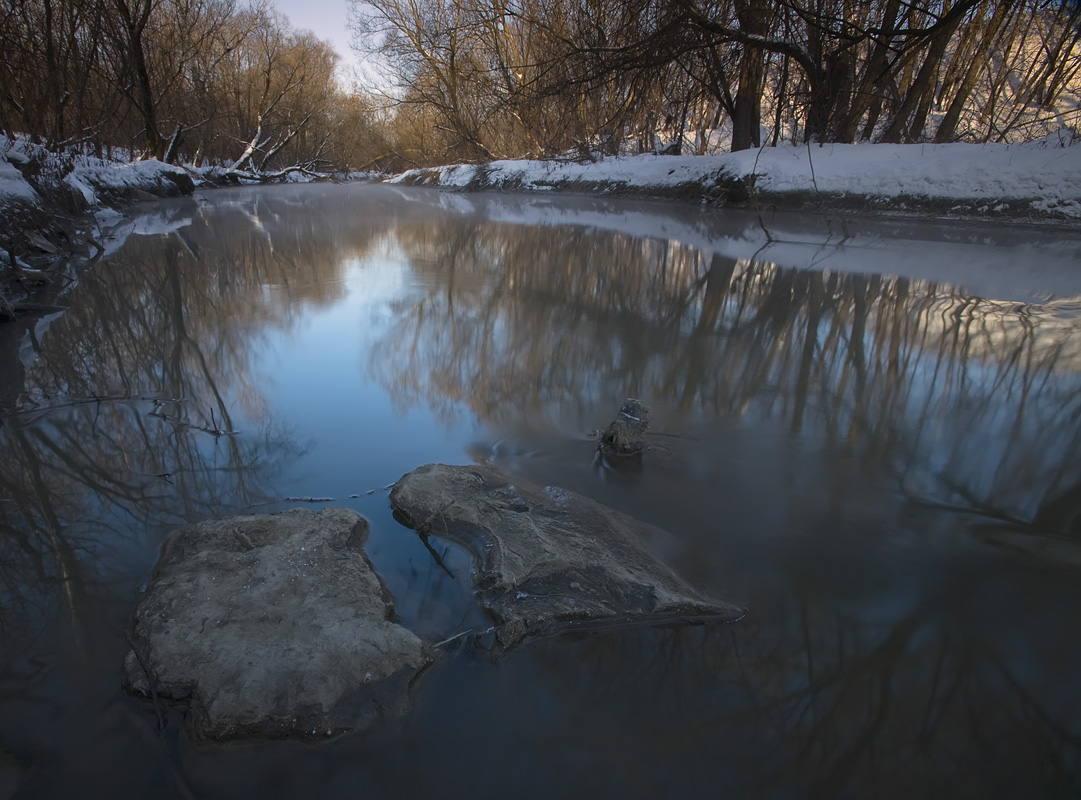
<svg viewBox="0 0 1081 800"><path fill-rule="evenodd" d="M417 158L645 150L658 137L684 152L995 142L1078 123L1070 0L353 1Z"/></svg>

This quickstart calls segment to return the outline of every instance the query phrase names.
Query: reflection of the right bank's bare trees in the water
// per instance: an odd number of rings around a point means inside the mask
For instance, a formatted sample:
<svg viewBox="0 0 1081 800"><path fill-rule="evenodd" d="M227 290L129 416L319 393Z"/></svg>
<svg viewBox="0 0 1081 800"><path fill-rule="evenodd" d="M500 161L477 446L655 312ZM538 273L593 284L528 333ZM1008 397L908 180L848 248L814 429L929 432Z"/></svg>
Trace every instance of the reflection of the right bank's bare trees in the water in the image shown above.
<svg viewBox="0 0 1081 800"><path fill-rule="evenodd" d="M451 398L510 426L645 397L670 415L784 426L884 467L917 499L1081 533L1075 299L468 218L399 244L428 291L397 304L371 369L402 405Z"/></svg>

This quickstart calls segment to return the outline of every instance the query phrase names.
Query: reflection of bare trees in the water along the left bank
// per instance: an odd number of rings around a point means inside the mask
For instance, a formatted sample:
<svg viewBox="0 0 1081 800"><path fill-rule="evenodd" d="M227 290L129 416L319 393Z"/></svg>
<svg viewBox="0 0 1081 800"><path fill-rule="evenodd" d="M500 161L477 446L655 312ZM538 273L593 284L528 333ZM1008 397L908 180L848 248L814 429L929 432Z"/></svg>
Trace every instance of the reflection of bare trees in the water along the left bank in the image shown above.
<svg viewBox="0 0 1081 800"><path fill-rule="evenodd" d="M163 532L266 502L303 452L266 408L252 354L306 304L339 298L342 261L371 234L343 252L311 217L286 224L288 200L224 205L212 219L163 203L174 229L129 239L84 275L43 337L0 429L5 628L57 609L77 624L78 592L118 570L137 585ZM124 575L126 548L138 556Z"/></svg>

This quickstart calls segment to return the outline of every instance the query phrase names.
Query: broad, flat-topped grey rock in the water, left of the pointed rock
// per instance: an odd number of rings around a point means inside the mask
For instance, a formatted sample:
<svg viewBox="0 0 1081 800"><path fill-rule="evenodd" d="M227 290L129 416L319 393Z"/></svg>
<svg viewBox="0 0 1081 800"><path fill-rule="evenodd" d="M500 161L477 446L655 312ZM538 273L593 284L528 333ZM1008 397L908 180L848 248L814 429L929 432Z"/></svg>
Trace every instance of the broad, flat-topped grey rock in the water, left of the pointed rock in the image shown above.
<svg viewBox="0 0 1081 800"><path fill-rule="evenodd" d="M391 622L368 531L324 508L172 534L135 612L128 686L189 702L199 738L328 735L404 714L430 651Z"/></svg>

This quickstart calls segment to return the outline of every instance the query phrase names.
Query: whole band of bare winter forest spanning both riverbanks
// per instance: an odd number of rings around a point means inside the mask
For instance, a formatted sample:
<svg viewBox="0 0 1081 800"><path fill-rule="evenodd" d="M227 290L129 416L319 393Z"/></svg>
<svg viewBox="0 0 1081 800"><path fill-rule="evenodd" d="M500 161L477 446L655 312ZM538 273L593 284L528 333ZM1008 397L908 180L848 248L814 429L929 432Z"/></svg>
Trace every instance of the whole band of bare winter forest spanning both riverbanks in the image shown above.
<svg viewBox="0 0 1081 800"><path fill-rule="evenodd" d="M272 4L3 0L0 130L266 173L1081 125L1077 0L348 0L378 80Z"/></svg>

